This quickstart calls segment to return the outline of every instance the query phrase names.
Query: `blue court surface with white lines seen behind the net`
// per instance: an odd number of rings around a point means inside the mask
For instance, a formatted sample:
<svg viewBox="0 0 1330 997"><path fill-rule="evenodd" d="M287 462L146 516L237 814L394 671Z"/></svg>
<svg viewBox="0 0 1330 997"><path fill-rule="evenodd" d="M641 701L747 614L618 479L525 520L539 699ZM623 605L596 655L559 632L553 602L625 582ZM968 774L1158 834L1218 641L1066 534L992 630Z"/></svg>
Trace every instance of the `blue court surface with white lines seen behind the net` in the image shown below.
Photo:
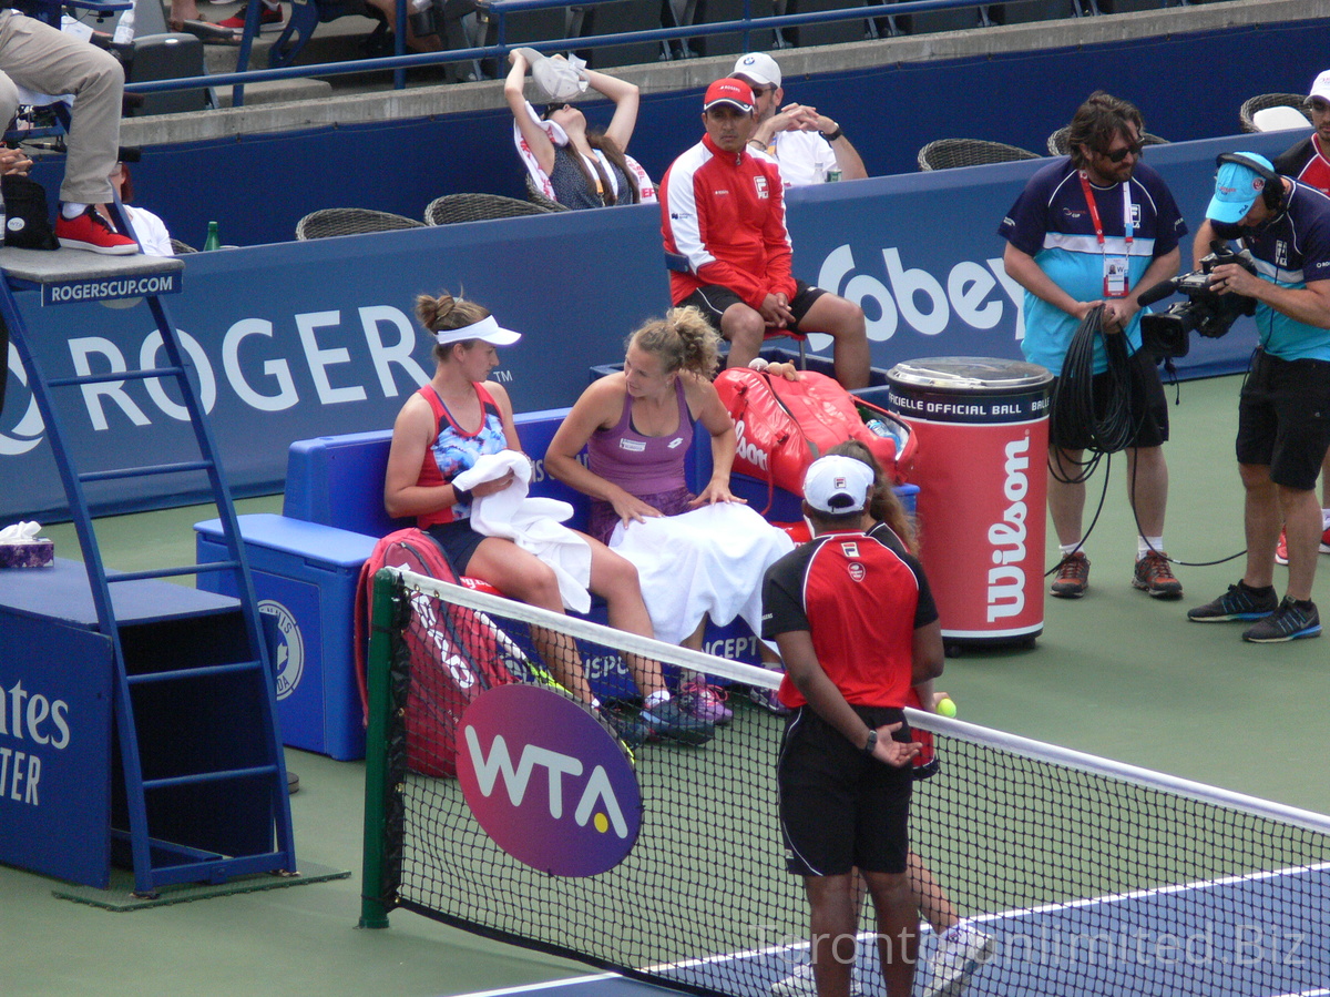
<svg viewBox="0 0 1330 997"><path fill-rule="evenodd" d="M1302 902L1290 905L1290 893ZM1225 916L1228 910L1242 910L1241 920ZM1303 917L1297 916L1298 910ZM1330 910L1330 864L980 914L971 924L992 934L996 944L956 994L1330 997L1330 922L1309 922L1307 910ZM920 933L916 993L928 986L935 949L936 938L926 928ZM782 945L658 966L654 972L708 988L718 984L720 964L743 961L750 964L743 977L754 984L745 997L769 997L767 986L806 961L806 945ZM871 936L861 936L859 960L867 993L880 993ZM726 977L734 978L729 973ZM669 993L614 973L595 973L467 997L545 992L551 997Z"/></svg>

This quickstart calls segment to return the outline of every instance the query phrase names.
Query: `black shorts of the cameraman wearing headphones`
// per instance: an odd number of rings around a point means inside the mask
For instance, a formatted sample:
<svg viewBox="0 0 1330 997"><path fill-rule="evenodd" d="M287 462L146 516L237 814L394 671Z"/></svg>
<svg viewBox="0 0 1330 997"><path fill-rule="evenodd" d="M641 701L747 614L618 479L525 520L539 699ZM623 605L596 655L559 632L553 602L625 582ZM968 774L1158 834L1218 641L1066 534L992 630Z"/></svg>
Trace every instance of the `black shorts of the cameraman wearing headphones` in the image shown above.
<svg viewBox="0 0 1330 997"><path fill-rule="evenodd" d="M1330 363L1257 350L1238 397L1238 463L1265 465L1286 489L1317 486L1330 446Z"/></svg>

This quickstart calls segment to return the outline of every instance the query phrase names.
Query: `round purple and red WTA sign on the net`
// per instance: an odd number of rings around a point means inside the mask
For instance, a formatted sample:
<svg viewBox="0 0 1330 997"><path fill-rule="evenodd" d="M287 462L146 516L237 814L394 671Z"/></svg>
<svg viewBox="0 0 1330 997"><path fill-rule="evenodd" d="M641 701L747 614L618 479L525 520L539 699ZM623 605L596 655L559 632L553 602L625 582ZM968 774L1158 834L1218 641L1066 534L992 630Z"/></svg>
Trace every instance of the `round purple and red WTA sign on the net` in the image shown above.
<svg viewBox="0 0 1330 997"><path fill-rule="evenodd" d="M596 876L633 849L637 776L581 705L539 686L496 686L462 717L458 781L503 851L553 876Z"/></svg>

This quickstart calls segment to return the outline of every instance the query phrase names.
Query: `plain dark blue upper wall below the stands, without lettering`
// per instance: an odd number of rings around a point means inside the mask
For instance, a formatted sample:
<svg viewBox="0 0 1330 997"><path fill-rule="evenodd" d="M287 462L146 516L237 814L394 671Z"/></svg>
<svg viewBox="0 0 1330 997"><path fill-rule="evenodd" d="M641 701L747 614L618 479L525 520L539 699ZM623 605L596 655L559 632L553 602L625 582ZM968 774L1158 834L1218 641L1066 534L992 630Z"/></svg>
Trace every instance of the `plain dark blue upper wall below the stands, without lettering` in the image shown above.
<svg viewBox="0 0 1330 997"><path fill-rule="evenodd" d="M1134 101L1148 130L1172 141L1230 134L1248 97L1306 92L1327 64L1326 29L1325 19L1238 25L894 63L785 85L790 100L835 116L871 176L890 176L914 173L919 148L935 138L991 138L1043 153L1048 134L1095 89ZM318 208L420 218L440 194L524 197L503 84L488 85L493 99L485 110L153 146L134 166L138 201L173 236L202 246L210 220L219 222L223 242L257 245L293 238L301 217ZM700 101L700 89L642 99L630 152L653 177L701 137ZM588 117L608 124L608 101L588 104ZM53 192L59 165L37 177Z"/></svg>

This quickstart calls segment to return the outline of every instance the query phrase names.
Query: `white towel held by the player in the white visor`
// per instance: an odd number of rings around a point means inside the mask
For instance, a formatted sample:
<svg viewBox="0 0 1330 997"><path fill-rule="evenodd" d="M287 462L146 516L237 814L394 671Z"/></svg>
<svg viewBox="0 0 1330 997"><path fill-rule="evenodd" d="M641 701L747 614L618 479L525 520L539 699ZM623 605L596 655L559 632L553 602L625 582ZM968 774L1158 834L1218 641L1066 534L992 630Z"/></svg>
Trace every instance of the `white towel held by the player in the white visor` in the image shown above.
<svg viewBox="0 0 1330 997"><path fill-rule="evenodd" d="M591 610L591 544L580 534L563 524L573 514L567 502L548 498L528 498L531 461L516 450L485 454L475 467L463 471L452 483L471 490L481 482L501 478L513 471L513 482L503 491L483 495L471 503L471 526L485 536L512 540L524 551L535 554L553 568L559 579L559 595L564 606L575 612Z"/></svg>

